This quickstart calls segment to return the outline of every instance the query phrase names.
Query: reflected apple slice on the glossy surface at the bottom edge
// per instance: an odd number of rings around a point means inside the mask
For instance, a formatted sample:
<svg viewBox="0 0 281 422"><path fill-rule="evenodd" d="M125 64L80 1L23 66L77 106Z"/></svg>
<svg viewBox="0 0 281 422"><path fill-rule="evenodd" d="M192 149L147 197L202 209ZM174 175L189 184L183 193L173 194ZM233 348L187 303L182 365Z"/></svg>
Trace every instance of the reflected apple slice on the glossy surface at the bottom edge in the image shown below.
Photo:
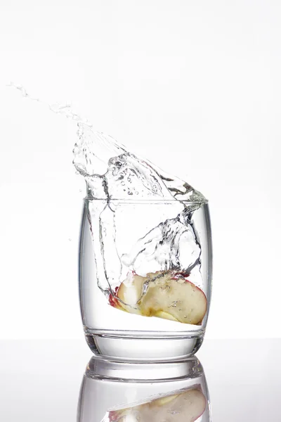
<svg viewBox="0 0 281 422"><path fill-rule="evenodd" d="M207 400L201 390L191 388L126 409L109 412L110 422L194 422L204 413Z"/></svg>

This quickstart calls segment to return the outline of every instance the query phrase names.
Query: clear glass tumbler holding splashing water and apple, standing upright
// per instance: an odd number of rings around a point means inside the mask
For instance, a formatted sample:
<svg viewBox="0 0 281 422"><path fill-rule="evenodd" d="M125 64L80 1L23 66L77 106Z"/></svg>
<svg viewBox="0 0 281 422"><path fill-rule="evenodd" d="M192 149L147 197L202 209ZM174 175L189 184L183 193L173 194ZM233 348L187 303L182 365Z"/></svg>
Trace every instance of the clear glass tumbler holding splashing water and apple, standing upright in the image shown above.
<svg viewBox="0 0 281 422"><path fill-rule="evenodd" d="M202 344L211 300L207 204L85 199L79 293L96 357L173 361Z"/></svg>

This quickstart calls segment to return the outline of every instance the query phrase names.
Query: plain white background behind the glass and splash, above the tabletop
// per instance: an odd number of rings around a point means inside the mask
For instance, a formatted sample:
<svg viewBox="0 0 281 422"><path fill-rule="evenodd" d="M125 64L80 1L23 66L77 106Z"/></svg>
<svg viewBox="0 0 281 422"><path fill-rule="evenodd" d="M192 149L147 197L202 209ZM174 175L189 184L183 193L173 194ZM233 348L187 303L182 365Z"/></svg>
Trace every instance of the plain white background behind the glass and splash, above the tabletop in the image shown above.
<svg viewBox="0 0 281 422"><path fill-rule="evenodd" d="M209 198L208 338L281 336L279 0L0 5L0 336L82 338L71 101Z"/></svg>

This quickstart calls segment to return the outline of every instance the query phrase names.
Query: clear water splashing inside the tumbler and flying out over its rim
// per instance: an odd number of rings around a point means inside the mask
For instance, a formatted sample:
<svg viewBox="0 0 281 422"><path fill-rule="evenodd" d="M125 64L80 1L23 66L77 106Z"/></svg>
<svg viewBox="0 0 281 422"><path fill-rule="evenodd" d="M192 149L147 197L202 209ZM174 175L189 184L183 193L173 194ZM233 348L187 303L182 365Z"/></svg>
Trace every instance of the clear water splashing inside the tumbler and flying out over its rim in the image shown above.
<svg viewBox="0 0 281 422"><path fill-rule="evenodd" d="M94 257L98 286L105 296L120 301L116 292L120 281L126 279L128 269L131 274L142 277L155 271L162 274L180 271L200 277L201 246L191 219L192 212L207 203L202 193L127 151L111 136L93 131L92 124L73 113L70 105L51 106L32 98L21 85L11 83L9 86L18 89L22 96L47 106L53 113L77 122L73 163L86 181L86 198L103 200L99 207L89 206L88 219L93 242L98 243ZM116 243L117 200L172 201L174 215L171 210L162 213L156 225L149 231L144 229L130 250L120 254ZM138 299L143 298L150 282L155 283L155 278L143 283Z"/></svg>

